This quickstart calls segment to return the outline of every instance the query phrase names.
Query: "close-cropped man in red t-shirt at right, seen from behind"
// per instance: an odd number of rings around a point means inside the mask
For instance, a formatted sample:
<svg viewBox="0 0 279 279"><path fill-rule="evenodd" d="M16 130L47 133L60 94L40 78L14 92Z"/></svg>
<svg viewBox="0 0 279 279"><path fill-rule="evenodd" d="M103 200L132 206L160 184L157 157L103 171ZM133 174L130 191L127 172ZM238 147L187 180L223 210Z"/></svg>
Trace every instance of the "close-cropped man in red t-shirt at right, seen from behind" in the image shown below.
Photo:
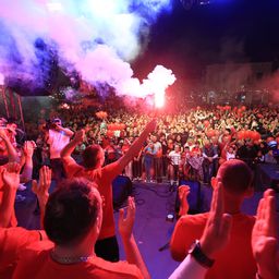
<svg viewBox="0 0 279 279"><path fill-rule="evenodd" d="M226 161L219 168L217 179L223 184L225 213L232 216L232 230L229 244L216 255L216 263L207 271L206 278L254 279L256 263L251 234L255 218L241 213L243 199L253 194L251 170L241 160ZM208 213L185 215L179 219L170 243L174 259L183 260L191 244L201 239L207 219Z"/></svg>

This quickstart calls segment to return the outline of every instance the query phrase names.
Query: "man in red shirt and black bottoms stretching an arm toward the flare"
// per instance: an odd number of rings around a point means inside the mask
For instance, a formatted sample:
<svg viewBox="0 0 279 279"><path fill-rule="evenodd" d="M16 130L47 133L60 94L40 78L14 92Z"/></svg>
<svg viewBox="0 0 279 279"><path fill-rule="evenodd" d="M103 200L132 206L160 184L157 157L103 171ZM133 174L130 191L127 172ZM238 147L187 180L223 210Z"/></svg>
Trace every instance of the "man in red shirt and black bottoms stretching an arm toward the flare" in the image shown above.
<svg viewBox="0 0 279 279"><path fill-rule="evenodd" d="M76 145L83 141L84 131L78 131L74 138L62 149L63 160L68 178L86 178L97 184L104 198L104 220L101 231L96 243L95 252L98 256L110 262L119 260L119 247L116 238L116 228L112 206L112 181L122 173L125 166L140 153L144 142L156 128L156 120L150 121L141 136L131 145L125 155L117 161L102 167L105 162L104 150L99 145L90 145L83 151L83 163L75 162L71 154Z"/></svg>

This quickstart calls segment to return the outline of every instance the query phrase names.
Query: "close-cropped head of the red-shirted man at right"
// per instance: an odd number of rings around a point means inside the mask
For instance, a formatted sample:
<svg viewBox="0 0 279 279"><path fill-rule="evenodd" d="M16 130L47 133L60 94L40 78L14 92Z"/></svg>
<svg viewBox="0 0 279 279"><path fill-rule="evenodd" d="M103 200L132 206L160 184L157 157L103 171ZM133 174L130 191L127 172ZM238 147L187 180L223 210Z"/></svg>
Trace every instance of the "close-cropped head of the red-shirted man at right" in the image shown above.
<svg viewBox="0 0 279 279"><path fill-rule="evenodd" d="M217 177L221 180L225 190L232 194L245 193L253 180L250 167L238 159L223 162Z"/></svg>

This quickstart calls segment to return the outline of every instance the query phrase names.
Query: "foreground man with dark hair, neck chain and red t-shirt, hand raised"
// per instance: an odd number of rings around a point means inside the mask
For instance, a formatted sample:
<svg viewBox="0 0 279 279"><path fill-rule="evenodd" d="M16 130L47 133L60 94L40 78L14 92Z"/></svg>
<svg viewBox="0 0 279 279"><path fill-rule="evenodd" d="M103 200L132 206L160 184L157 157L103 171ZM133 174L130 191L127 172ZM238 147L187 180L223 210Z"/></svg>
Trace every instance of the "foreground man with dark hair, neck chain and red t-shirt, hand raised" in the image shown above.
<svg viewBox="0 0 279 279"><path fill-rule="evenodd" d="M109 263L95 255L102 222L101 197L85 179L60 183L46 205L44 227L53 242L36 242L20 255L14 279L150 278L132 234L134 201L120 211L119 230L126 262ZM36 263L34 265L34 263Z"/></svg>

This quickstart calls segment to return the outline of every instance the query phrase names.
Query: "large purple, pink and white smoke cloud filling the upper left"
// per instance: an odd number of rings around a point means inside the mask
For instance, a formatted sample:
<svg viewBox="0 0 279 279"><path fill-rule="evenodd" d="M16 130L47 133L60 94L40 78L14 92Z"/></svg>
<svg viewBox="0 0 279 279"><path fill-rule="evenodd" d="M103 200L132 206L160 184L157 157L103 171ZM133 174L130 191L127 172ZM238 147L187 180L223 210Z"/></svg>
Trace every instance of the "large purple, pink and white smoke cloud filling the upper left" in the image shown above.
<svg viewBox="0 0 279 279"><path fill-rule="evenodd" d="M157 16L170 9L171 0L2 1L0 73L34 92L51 88L60 68L124 94L133 76L129 62L144 51Z"/></svg>

